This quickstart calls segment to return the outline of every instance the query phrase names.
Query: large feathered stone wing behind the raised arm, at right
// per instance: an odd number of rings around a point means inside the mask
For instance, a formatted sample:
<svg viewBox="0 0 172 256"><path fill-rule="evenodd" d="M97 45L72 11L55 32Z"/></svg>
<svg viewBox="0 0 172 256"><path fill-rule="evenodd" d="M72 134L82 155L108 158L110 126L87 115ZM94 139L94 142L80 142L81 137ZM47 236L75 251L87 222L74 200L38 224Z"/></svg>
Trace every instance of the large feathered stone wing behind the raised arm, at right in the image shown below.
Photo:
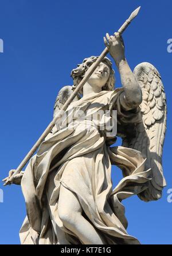
<svg viewBox="0 0 172 256"><path fill-rule="evenodd" d="M166 96L161 76L153 65L140 63L134 75L142 88L143 101L140 104L142 122L136 124L135 136L124 137L123 146L142 152L147 158L146 170L151 168L152 179L146 190L139 194L143 201L161 198L166 180L162 169L162 150L166 131Z"/></svg>

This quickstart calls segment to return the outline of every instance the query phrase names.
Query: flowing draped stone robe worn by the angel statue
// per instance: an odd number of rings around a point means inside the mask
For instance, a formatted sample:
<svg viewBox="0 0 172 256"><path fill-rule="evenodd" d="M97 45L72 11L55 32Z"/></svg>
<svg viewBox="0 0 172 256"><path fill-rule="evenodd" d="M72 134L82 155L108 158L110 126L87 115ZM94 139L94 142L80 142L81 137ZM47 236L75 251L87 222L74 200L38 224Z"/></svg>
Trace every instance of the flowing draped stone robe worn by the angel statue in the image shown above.
<svg viewBox="0 0 172 256"><path fill-rule="evenodd" d="M72 129L69 121L61 124L60 130L55 127L30 159L21 181L27 210L19 232L22 244L58 244L59 229L69 244L81 244L58 216L61 186L76 195L83 216L106 244L139 244L127 234L122 200L146 189L150 180L150 170L144 169L146 159L134 149L111 146L105 131L97 128L99 121L90 119L99 110L117 110L118 125L139 122L139 111L123 109L122 95L123 89L119 88L71 103L66 112L73 108L75 114L83 111L86 118L89 112L90 129L85 129L83 119L73 118ZM104 116L101 125L107 119ZM112 164L124 176L115 189L112 189Z"/></svg>

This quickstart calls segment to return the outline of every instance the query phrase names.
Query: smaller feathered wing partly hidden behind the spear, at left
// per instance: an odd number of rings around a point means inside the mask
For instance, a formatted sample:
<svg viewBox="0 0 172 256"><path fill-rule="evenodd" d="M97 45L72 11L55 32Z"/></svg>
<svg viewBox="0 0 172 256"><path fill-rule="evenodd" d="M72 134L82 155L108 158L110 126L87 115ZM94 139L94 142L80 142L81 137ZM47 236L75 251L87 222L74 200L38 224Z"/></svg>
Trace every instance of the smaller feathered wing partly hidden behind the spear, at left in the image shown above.
<svg viewBox="0 0 172 256"><path fill-rule="evenodd" d="M54 104L54 116L56 115L57 111L61 110L62 106L68 100L69 96L71 96L72 92L73 90L71 85L66 85L60 89ZM77 96L72 101L76 101L79 99L80 96L77 94Z"/></svg>

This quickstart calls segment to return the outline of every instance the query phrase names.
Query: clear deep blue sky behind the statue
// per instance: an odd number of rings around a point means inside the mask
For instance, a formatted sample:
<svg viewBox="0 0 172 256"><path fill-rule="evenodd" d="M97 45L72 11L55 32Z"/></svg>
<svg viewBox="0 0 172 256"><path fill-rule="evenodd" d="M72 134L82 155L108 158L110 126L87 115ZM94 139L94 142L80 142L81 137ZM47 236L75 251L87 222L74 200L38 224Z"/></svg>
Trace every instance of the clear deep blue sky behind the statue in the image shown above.
<svg viewBox="0 0 172 256"><path fill-rule="evenodd" d="M128 232L143 244L172 244L172 203L167 190L171 174L172 38L170 0L0 0L1 161L0 179L16 168L52 119L58 90L71 85L71 70L83 58L99 55L103 36L114 33L139 5L139 16L124 33L126 57L131 69L140 62L152 63L161 73L167 96L167 134L163 168L167 187L161 200L145 203L138 197L123 201ZM114 65L114 69L116 67ZM120 85L116 71L117 85ZM119 170L112 169L119 180ZM3 187L0 203L0 244L18 244L25 217L19 186Z"/></svg>

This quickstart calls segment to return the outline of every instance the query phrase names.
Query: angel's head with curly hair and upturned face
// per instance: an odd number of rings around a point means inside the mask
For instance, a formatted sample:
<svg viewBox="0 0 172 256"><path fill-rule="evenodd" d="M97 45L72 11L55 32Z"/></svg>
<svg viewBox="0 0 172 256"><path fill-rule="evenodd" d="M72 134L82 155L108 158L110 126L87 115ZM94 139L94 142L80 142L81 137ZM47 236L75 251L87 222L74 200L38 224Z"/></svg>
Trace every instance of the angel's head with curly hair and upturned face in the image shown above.
<svg viewBox="0 0 172 256"><path fill-rule="evenodd" d="M80 83L85 76L85 72L97 60L98 57L92 56L84 59L83 63L77 65L76 69L71 72L73 78L73 89ZM115 86L115 71L112 69L112 62L105 57L97 69L89 77L88 82L90 85L99 86L102 91L112 91ZM83 89L80 91L83 94Z"/></svg>

